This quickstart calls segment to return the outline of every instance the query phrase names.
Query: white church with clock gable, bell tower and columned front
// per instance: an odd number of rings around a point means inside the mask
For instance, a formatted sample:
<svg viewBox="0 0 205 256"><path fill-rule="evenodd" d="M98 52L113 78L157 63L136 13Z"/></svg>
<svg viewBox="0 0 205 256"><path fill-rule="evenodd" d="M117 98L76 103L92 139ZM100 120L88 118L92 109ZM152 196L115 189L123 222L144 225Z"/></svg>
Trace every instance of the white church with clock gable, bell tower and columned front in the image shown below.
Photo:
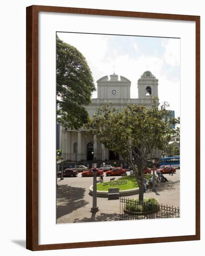
<svg viewBox="0 0 205 256"><path fill-rule="evenodd" d="M90 105L85 106L90 117L101 108L104 102L112 102L116 108L125 108L127 104L140 104L151 108L151 99L149 95L158 97L158 80L150 72L145 71L138 80L138 98L130 98L131 81L124 76L118 76L115 73L106 75L97 82L97 98L92 99ZM64 161L77 164L84 164L97 160L98 162L111 163L114 161L123 161L122 157L109 148L105 148L94 136L89 140L86 130L66 130L64 127L59 129L59 148L62 149ZM160 154L160 153L159 153ZM155 152L155 157L158 152Z"/></svg>

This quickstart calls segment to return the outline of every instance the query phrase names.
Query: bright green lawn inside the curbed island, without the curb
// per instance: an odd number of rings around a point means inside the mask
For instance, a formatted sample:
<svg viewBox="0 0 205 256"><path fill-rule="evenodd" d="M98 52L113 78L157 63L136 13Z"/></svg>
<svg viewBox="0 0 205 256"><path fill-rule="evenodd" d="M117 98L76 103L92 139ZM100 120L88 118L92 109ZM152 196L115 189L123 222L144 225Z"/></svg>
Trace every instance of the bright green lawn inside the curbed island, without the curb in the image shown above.
<svg viewBox="0 0 205 256"><path fill-rule="evenodd" d="M150 179L151 175L145 175L145 177L148 181L148 179ZM97 183L97 190L108 191L108 189L110 189L110 188L119 188L120 190L138 188L137 181L133 175L131 175L131 176L128 175L128 176L116 179L114 182L115 183L113 183L113 181ZM126 182L126 184L121 184L121 183L125 183L125 182ZM113 184L113 185L111 185L111 184Z"/></svg>

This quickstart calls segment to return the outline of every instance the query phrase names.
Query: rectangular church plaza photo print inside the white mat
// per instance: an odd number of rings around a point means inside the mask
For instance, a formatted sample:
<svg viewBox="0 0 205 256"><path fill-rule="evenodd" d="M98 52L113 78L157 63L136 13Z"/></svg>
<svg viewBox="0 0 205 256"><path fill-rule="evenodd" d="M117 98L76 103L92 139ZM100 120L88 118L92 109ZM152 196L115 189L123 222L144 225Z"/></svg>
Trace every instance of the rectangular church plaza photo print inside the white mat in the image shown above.
<svg viewBox="0 0 205 256"><path fill-rule="evenodd" d="M57 32L56 72L56 222L180 217L180 39Z"/></svg>

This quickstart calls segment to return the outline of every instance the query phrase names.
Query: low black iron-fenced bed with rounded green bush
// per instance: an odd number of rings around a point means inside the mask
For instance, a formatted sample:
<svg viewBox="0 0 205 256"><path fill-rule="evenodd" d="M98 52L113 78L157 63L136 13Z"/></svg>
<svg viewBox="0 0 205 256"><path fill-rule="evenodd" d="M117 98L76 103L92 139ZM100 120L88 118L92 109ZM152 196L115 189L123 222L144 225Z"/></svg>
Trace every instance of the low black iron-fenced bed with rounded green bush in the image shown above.
<svg viewBox="0 0 205 256"><path fill-rule="evenodd" d="M145 198L144 202L139 202L136 199L120 198L120 220L179 217L179 207L162 205L154 198Z"/></svg>

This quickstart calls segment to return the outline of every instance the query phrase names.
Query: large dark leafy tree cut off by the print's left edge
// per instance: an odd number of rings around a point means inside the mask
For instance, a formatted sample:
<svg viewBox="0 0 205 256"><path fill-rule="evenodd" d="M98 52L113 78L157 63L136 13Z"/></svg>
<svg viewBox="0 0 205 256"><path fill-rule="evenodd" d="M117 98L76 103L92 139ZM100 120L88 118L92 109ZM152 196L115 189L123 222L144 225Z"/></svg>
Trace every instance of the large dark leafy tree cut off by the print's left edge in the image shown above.
<svg viewBox="0 0 205 256"><path fill-rule="evenodd" d="M90 68L77 48L57 37L57 115L65 128L78 129L89 115L84 105L96 90Z"/></svg>

